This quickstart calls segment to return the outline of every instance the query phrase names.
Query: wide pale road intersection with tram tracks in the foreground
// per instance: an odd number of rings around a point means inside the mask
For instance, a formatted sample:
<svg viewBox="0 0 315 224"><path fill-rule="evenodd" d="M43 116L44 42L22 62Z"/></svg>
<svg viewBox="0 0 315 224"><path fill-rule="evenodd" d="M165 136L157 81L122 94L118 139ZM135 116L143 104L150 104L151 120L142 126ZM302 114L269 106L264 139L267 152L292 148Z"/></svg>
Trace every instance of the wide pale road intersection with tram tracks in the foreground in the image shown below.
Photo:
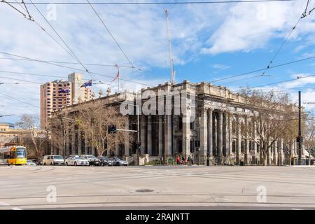
<svg viewBox="0 0 315 224"><path fill-rule="evenodd" d="M315 209L315 167L1 166L0 209Z"/></svg>

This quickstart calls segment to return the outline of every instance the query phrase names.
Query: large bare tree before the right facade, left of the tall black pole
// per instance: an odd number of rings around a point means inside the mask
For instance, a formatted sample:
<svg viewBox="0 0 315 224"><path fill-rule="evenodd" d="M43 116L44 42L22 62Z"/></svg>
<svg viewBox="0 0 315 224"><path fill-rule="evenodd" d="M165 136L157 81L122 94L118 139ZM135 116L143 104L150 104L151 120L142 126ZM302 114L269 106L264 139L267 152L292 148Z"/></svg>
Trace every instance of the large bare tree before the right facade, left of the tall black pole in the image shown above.
<svg viewBox="0 0 315 224"><path fill-rule="evenodd" d="M241 91L241 95L252 110L250 125L245 125L241 132L244 132L251 141L255 141L255 134L258 135L260 141L256 141L256 144L262 153L262 165L265 166L267 153L271 151L274 143L283 137L284 130L293 128L290 127L290 122L296 115L294 106L290 105L288 94L281 92L247 88Z"/></svg>

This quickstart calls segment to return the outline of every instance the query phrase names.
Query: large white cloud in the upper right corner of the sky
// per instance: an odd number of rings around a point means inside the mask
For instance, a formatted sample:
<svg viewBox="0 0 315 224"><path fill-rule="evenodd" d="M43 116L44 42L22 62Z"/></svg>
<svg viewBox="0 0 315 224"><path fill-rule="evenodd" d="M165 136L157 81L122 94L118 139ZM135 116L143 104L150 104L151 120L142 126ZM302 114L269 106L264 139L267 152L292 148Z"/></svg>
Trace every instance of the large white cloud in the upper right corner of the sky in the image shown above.
<svg viewBox="0 0 315 224"><path fill-rule="evenodd" d="M304 1L252 4L237 3L230 8L223 24L209 38L209 48L202 52L250 51L262 48L270 38L284 38L300 18ZM310 6L311 8L311 6ZM290 38L315 31L311 18L304 18Z"/></svg>

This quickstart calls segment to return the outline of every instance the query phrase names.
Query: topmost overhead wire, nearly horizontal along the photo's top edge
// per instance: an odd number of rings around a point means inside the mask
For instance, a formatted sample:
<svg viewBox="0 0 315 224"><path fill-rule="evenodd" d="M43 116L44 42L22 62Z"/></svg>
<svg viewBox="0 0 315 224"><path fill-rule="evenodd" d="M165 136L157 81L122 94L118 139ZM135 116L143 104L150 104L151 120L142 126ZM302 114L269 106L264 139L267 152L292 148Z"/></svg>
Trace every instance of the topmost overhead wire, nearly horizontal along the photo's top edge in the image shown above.
<svg viewBox="0 0 315 224"><path fill-rule="evenodd" d="M120 5L186 5L186 4L210 4L210 3L256 3L256 2L288 2L288 1L297 1L297 0L244 0L244 1L160 1L160 2L153 2L153 1L143 1L143 2L94 2L91 3L92 5L113 5L113 6L120 6ZM12 2L9 2L12 3ZM25 2L26 4L29 4ZM85 2L34 2L35 5L89 5L89 3Z"/></svg>

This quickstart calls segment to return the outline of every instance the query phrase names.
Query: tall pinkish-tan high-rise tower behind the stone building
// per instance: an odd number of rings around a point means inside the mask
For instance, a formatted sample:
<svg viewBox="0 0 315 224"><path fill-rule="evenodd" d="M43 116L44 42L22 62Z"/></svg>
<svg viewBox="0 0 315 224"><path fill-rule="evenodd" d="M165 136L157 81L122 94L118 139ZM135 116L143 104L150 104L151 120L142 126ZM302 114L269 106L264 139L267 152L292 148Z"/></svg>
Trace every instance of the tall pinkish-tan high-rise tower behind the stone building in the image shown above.
<svg viewBox="0 0 315 224"><path fill-rule="evenodd" d="M82 74L71 73L68 80L54 80L41 85L41 128L47 127L53 111L90 99L90 89L80 87L83 83L85 80Z"/></svg>

